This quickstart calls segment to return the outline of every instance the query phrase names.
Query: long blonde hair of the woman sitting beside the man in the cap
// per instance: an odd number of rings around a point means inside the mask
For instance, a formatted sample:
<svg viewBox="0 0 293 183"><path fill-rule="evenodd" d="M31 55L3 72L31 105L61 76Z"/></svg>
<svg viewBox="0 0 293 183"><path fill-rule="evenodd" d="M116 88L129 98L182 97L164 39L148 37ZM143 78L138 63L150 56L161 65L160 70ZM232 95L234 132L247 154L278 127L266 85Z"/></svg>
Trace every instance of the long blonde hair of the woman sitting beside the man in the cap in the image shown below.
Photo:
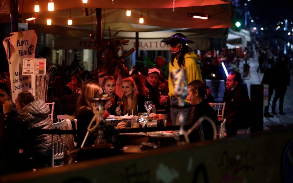
<svg viewBox="0 0 293 183"><path fill-rule="evenodd" d="M126 77L125 79L122 80L121 84L124 82L129 82L132 87L133 87L133 92L132 92L132 96L131 96L131 106L128 106L128 102L127 102L127 98L126 96L123 97L123 114L126 114L127 109L133 109L134 111L136 111L136 104L137 104L137 86L135 81L132 79L132 77Z"/></svg>

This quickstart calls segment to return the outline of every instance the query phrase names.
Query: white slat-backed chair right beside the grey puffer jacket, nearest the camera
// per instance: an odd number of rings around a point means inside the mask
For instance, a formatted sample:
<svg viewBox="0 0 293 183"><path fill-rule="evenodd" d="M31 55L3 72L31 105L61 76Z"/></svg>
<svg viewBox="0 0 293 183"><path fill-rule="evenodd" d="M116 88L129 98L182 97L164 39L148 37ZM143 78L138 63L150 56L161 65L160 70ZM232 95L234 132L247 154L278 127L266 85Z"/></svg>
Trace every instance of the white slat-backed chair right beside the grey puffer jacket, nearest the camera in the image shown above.
<svg viewBox="0 0 293 183"><path fill-rule="evenodd" d="M52 129L67 130L69 120L63 120L52 124ZM52 135L52 167L54 161L63 159L67 156L67 135Z"/></svg>

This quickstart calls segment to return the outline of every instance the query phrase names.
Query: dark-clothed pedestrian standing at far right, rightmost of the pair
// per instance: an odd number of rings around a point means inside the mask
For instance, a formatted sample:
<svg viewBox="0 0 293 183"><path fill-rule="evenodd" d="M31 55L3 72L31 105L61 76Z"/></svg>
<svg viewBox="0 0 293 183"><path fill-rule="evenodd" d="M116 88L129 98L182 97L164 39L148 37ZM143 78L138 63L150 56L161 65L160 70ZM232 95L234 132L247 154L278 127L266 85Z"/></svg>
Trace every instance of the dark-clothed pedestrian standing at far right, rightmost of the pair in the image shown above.
<svg viewBox="0 0 293 183"><path fill-rule="evenodd" d="M287 66L287 59L286 55L281 55L279 61L273 66L273 77L275 77L276 85L275 85L275 96L273 99L272 105L272 113L276 113L276 103L278 98L279 101L279 114L284 115L283 111L283 103L284 103L284 96L287 90L287 86L290 84L290 73L289 68Z"/></svg>

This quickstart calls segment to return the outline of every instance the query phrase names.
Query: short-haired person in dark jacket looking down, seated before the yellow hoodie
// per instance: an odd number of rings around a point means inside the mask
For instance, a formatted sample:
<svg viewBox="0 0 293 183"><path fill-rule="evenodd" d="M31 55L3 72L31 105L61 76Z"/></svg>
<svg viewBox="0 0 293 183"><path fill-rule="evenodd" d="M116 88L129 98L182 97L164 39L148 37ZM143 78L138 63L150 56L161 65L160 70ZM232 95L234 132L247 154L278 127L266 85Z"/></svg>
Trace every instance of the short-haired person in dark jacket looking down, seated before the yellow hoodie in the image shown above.
<svg viewBox="0 0 293 183"><path fill-rule="evenodd" d="M187 98L190 105L194 106L193 123L196 123L200 117L206 116L211 118L215 126L218 124L218 116L215 110L208 104L208 100L204 99L206 95L206 85L200 80L194 80L188 84ZM208 121L203 121L202 129L204 132L204 139L213 139L213 128ZM190 124L191 125L191 124ZM199 131L190 134L190 142L195 142L200 139Z"/></svg>

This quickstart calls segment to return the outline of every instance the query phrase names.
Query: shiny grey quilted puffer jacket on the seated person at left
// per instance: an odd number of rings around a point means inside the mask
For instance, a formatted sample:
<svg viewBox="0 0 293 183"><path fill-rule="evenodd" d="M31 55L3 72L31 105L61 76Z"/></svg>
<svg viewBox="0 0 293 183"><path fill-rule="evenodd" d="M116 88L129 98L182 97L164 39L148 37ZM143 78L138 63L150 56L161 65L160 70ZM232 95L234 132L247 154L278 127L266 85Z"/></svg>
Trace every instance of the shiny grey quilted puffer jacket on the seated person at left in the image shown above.
<svg viewBox="0 0 293 183"><path fill-rule="evenodd" d="M31 102L20 111L21 117L29 123L29 129L52 129L49 113L49 106L42 100ZM51 150L52 135L32 135L29 144L31 152L47 153Z"/></svg>

